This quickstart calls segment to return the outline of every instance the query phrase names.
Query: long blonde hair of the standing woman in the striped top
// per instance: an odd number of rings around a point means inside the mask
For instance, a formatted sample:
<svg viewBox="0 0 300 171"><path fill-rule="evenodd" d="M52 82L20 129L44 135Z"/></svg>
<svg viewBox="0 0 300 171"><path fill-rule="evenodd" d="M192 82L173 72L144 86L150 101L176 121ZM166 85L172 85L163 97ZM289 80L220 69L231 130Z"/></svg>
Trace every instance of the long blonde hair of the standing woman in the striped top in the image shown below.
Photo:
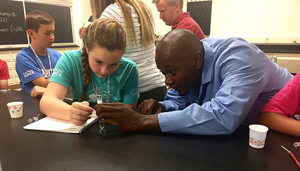
<svg viewBox="0 0 300 171"><path fill-rule="evenodd" d="M127 27L127 40L133 42L137 46L133 19L131 16L130 4L139 16L141 27L141 40L144 46L154 42L154 22L150 8L141 0L90 0L90 8L93 18L99 18L103 10L111 3L116 2L120 7ZM132 43L133 44L133 43Z"/></svg>

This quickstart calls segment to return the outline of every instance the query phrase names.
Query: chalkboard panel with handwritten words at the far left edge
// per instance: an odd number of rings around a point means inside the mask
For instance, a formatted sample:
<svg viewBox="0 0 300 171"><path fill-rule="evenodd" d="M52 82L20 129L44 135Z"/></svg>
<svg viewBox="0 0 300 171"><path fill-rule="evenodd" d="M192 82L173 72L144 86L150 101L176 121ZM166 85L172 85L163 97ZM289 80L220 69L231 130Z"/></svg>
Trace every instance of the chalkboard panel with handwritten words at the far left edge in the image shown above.
<svg viewBox="0 0 300 171"><path fill-rule="evenodd" d="M27 44L22 1L0 1L0 44Z"/></svg>

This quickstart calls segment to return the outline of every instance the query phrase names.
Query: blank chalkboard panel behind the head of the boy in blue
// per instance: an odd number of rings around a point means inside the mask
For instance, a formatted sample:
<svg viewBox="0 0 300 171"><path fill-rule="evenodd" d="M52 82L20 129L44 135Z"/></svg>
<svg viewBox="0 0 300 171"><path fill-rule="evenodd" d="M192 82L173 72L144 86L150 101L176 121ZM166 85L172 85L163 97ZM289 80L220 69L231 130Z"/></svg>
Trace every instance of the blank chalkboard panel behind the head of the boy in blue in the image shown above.
<svg viewBox="0 0 300 171"><path fill-rule="evenodd" d="M69 6L25 2L26 14L32 10L41 10L55 20L54 43L72 43L72 23Z"/></svg>

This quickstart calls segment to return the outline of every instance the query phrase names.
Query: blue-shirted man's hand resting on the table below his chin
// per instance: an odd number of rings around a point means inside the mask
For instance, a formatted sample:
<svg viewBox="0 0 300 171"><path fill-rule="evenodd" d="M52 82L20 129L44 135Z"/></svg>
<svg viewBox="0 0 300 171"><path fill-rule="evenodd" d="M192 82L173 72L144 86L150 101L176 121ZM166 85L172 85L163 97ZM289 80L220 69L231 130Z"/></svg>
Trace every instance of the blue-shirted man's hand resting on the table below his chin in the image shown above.
<svg viewBox="0 0 300 171"><path fill-rule="evenodd" d="M138 105L138 113L140 114L158 114L162 109L162 105L152 98L144 100Z"/></svg>

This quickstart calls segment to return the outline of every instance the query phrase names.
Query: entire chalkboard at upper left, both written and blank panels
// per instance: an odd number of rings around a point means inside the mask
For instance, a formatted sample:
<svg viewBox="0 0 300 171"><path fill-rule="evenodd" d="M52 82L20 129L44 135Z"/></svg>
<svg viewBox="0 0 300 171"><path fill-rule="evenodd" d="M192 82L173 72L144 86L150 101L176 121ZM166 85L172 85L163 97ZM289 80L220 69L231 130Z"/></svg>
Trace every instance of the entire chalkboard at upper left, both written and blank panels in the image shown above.
<svg viewBox="0 0 300 171"><path fill-rule="evenodd" d="M53 17L55 20L54 43L58 43L57 45L74 44L70 6L0 0L0 47L29 44L24 24L24 11L27 14L32 10L41 10Z"/></svg>

